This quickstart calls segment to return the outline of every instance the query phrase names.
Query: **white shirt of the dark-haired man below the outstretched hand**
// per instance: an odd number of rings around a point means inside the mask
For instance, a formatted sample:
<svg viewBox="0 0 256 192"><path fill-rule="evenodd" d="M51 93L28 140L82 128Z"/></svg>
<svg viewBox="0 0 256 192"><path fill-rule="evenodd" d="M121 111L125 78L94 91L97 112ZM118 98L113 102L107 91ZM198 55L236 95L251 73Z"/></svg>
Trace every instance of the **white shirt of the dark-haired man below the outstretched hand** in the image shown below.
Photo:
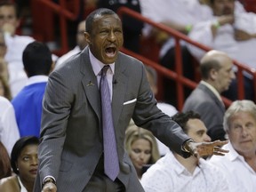
<svg viewBox="0 0 256 192"><path fill-rule="evenodd" d="M193 174L172 152L153 164L140 180L146 192L228 192L227 180L217 167L200 159Z"/></svg>

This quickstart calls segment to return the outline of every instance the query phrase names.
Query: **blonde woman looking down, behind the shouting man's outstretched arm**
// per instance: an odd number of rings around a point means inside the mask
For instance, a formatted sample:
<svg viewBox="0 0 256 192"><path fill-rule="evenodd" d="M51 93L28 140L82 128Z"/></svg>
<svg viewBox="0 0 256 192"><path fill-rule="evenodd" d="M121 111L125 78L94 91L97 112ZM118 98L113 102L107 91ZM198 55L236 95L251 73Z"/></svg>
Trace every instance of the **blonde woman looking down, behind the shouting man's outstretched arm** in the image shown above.
<svg viewBox="0 0 256 192"><path fill-rule="evenodd" d="M135 125L130 126L126 131L125 148L139 179L144 172L143 168L155 164L160 158L155 136Z"/></svg>

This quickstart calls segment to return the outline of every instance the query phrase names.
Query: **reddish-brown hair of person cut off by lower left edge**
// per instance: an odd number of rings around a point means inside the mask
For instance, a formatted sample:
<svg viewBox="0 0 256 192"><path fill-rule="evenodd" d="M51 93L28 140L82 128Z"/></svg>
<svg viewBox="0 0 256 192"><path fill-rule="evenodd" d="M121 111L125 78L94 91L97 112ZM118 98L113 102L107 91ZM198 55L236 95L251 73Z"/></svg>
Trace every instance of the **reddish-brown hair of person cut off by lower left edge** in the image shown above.
<svg viewBox="0 0 256 192"><path fill-rule="evenodd" d="M0 180L12 175L11 162L6 148L0 141Z"/></svg>

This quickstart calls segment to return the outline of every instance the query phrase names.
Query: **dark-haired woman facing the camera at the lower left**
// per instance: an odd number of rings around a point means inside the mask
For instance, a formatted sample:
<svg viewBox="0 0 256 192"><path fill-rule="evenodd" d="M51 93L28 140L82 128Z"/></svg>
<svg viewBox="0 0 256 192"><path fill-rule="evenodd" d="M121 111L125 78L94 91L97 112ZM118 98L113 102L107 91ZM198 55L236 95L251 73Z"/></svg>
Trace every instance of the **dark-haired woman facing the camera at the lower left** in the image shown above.
<svg viewBox="0 0 256 192"><path fill-rule="evenodd" d="M37 172L39 140L28 136L17 140L12 148L11 165L16 173L0 181L0 191L32 192Z"/></svg>

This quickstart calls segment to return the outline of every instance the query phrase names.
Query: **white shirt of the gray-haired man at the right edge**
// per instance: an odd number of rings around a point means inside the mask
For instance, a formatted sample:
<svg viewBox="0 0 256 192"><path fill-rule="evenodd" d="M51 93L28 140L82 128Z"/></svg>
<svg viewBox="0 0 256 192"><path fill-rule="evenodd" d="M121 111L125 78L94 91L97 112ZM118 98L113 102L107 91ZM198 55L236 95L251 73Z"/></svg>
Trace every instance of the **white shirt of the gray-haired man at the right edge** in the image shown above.
<svg viewBox="0 0 256 192"><path fill-rule="evenodd" d="M209 160L211 164L220 167L223 175L228 180L228 186L232 192L255 192L256 172L252 170L244 161L244 156L240 156L229 142L223 146L229 150L225 156L212 156Z"/></svg>

